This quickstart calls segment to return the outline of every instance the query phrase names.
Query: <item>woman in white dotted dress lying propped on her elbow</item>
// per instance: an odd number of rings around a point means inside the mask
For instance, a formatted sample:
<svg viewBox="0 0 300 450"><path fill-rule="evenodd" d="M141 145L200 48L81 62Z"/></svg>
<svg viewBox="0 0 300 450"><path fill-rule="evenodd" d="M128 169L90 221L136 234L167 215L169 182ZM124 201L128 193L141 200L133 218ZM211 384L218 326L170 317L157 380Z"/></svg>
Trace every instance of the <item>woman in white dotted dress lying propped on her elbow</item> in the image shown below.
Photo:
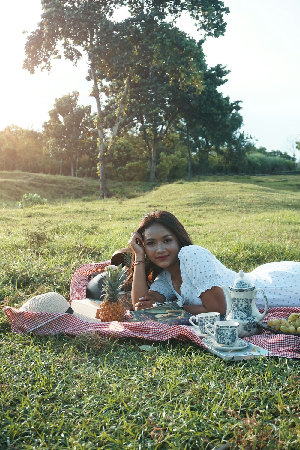
<svg viewBox="0 0 300 450"><path fill-rule="evenodd" d="M193 245L184 226L170 212L152 211L131 234L133 262L127 283L132 282L135 310L177 297L192 314L217 311L225 314L221 284L230 286L238 274L227 269L206 248ZM148 279L153 283L148 288ZM300 263L281 261L264 264L246 274L261 288L269 306L300 306ZM256 306L264 306L262 299Z"/></svg>

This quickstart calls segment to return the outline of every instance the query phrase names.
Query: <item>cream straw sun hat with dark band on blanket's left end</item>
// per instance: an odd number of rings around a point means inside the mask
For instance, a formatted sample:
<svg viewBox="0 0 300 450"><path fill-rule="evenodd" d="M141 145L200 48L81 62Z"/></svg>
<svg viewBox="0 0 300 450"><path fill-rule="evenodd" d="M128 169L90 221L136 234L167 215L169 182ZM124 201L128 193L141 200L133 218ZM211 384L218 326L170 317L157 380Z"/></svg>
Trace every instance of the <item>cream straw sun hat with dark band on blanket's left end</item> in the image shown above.
<svg viewBox="0 0 300 450"><path fill-rule="evenodd" d="M49 292L32 297L19 308L19 311L72 314L85 322L92 324L101 323L100 319L73 311L67 300L57 292Z"/></svg>

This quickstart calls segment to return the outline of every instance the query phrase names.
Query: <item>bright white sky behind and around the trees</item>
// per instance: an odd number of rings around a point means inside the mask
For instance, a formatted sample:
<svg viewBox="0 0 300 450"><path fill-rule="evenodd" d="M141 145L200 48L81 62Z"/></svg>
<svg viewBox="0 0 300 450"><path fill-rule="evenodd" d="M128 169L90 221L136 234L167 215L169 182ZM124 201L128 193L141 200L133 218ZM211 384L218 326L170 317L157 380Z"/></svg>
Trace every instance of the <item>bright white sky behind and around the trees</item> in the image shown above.
<svg viewBox="0 0 300 450"><path fill-rule="evenodd" d="M225 36L204 45L208 65L227 65L222 92L242 100L243 130L257 146L292 154L300 140L300 0L224 0L230 9ZM51 74L22 69L26 35L40 21L40 0L2 2L0 9L0 130L16 124L41 130L55 98L78 90L80 104L91 104L87 64L54 61ZM188 20L180 27L192 32ZM197 38L196 30L193 36ZM296 151L297 159L300 151Z"/></svg>

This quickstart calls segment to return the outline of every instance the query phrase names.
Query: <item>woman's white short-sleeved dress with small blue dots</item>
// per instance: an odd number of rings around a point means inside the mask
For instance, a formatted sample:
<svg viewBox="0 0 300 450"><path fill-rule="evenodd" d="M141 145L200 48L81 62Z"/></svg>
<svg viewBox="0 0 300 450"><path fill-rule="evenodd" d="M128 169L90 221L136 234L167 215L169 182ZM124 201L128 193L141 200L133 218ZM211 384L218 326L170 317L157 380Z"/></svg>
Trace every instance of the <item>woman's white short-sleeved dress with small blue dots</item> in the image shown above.
<svg viewBox="0 0 300 450"><path fill-rule="evenodd" d="M181 296L175 291L167 270L163 270L150 286L151 291L164 295L167 301L177 297L185 305L202 305L199 298L202 292L222 284L229 287L238 278L236 272L227 269L209 250L198 245L182 247L178 257ZM245 279L264 290L269 306L300 306L300 262L264 264L245 274ZM255 300L255 304L264 307L263 297Z"/></svg>

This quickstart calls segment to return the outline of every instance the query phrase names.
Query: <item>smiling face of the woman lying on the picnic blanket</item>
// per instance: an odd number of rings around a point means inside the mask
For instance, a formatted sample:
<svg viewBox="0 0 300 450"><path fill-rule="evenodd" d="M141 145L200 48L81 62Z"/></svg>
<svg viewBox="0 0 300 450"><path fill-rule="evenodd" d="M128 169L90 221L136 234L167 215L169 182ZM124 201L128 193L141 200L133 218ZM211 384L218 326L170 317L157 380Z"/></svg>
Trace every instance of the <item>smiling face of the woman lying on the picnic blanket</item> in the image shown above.
<svg viewBox="0 0 300 450"><path fill-rule="evenodd" d="M150 225L143 232L143 240L146 255L158 267L168 270L178 264L178 239L164 225Z"/></svg>

